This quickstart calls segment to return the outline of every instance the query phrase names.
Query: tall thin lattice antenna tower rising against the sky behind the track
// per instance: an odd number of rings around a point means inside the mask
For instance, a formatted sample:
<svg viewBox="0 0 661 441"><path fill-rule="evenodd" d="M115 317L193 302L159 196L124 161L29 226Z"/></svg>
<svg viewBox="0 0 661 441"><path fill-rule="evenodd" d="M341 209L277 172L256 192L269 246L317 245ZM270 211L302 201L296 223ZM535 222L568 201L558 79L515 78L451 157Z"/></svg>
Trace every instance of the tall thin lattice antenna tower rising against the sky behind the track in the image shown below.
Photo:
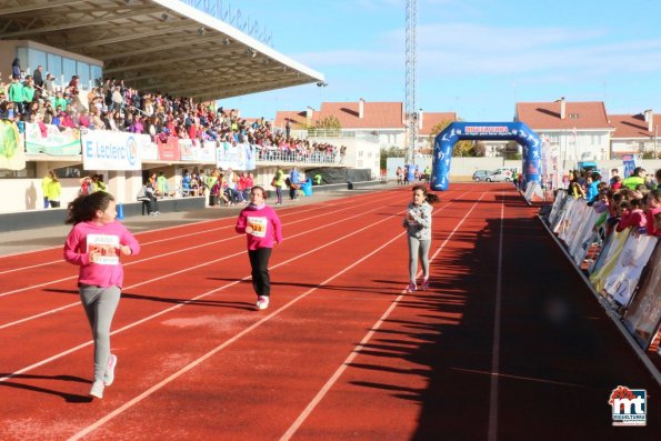
<svg viewBox="0 0 661 441"><path fill-rule="evenodd" d="M415 143L418 141L418 111L415 103L415 64L418 47L415 34L418 33L418 0L407 0L407 163L415 161Z"/></svg>

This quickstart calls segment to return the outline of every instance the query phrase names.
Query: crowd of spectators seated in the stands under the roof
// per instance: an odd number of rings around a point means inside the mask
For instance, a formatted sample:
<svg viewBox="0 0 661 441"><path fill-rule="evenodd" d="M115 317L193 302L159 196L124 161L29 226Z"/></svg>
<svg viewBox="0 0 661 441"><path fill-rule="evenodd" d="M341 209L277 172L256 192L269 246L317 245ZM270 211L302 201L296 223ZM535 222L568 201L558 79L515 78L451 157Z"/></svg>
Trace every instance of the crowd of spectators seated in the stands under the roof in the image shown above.
<svg viewBox="0 0 661 441"><path fill-rule="evenodd" d="M193 142L248 142L260 148L260 159L334 162L344 149L323 142L296 139L290 130L274 129L264 118L248 120L237 109L218 110L213 103L196 103L192 98L139 91L121 79L104 79L81 94L79 77L68 84L56 84L56 78L39 66L31 74L12 63L9 81L0 73L0 119L12 120L24 131L24 122L53 124L60 130L111 130L149 134L153 142L170 137Z"/></svg>

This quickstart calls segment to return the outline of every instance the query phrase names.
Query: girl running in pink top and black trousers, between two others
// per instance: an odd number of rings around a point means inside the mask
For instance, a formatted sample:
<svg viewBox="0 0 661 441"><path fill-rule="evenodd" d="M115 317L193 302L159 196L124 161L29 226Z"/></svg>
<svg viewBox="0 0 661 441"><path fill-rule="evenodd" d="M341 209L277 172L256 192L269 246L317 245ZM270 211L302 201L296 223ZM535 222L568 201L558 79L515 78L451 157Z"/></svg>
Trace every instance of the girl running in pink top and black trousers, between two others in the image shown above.
<svg viewBox="0 0 661 441"><path fill-rule="evenodd" d="M257 294L257 308L267 309L271 295L269 258L273 242L282 242L280 218L266 203L267 193L262 187L250 190L250 204L239 213L236 230L248 239L248 257L252 268L252 288Z"/></svg>

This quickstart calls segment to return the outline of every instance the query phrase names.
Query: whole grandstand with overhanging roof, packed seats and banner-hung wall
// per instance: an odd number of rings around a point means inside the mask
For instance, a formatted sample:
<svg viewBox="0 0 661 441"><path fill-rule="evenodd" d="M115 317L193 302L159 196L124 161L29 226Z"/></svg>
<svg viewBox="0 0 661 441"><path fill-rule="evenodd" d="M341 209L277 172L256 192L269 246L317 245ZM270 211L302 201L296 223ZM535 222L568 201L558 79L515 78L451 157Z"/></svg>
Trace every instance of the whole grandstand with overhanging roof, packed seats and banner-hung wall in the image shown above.
<svg viewBox="0 0 661 441"><path fill-rule="evenodd" d="M340 146L283 139L269 121L216 107L219 99L324 77L196 8L209 3L4 4L0 118L11 157L0 158L0 188L10 196L1 210L40 209L41 178L52 169L61 178L62 201L76 196L81 176L100 173L120 202L131 202L148 171L164 171L177 189L183 169L222 167L241 154L257 160L251 167L262 184L282 162L302 170L338 163ZM226 162L216 149L228 154Z"/></svg>

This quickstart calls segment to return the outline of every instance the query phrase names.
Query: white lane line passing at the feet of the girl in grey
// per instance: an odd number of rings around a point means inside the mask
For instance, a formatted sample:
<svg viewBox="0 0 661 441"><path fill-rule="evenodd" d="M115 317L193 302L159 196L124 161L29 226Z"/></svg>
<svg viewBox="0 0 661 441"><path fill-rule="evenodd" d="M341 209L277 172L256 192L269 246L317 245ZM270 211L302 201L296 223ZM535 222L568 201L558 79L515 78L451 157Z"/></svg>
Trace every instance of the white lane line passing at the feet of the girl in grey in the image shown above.
<svg viewBox="0 0 661 441"><path fill-rule="evenodd" d="M429 262L430 265L431 265L431 262L441 252L441 250L445 247L445 244L450 241L450 239L452 239L452 235L454 235L454 233L457 232L457 230L459 229L459 227L461 227L461 224L463 223L463 221L473 211L473 209L478 206L478 203L482 200L483 197L484 197L484 193L482 193L482 196L480 197L480 199L478 199L473 203L473 206L471 207L471 209L463 216L463 218L459 221L459 223L457 224L457 227L454 227L454 229L452 230L452 232L445 238L445 240L443 241L443 243L441 244L441 247L433 253L433 255L431 257L430 262ZM299 417L296 419L296 421L290 425L290 428L287 430L287 432L284 432L284 434L280 438L281 441L289 440L300 429L300 427L303 424L303 422L306 422L306 420L308 419L308 417L310 415L310 413L312 413L312 411L314 410L314 408L321 402L321 400L326 397L326 394L334 385L334 383L342 375L342 373L344 372L344 370L347 370L347 368L349 367L349 364L351 364L351 362L353 361L353 359L364 349L365 344L370 341L370 339L372 338L372 335L374 334L374 332L377 332L377 330L381 327L381 324L388 319L388 317L390 315L390 313L394 310L394 308L397 307L397 304L403 299L404 294L405 294L405 291L403 291L400 295L398 295L397 299L394 299L394 301L390 304L390 307L385 310L385 312L383 312L383 314L381 315L381 318L372 325L372 328L370 329L370 331L363 337L363 339L360 341L360 343L358 343L358 345L353 349L353 351L351 351L351 353L349 354L349 357L347 357L347 359L335 370L335 372L326 382L326 384L323 384L323 387L321 388L321 390L319 392L317 392L317 395L314 395L314 398L312 399L312 401L310 401L310 403L306 407L306 409L303 409L303 411L299 414Z"/></svg>

